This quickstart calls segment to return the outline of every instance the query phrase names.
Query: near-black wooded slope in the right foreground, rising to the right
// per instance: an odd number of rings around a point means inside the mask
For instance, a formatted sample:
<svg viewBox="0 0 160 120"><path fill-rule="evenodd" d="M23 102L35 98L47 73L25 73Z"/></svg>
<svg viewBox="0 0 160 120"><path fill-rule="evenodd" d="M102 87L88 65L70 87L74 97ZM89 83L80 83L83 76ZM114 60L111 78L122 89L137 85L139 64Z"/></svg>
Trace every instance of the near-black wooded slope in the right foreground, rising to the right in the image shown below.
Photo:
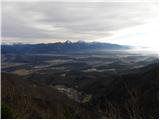
<svg viewBox="0 0 160 120"><path fill-rule="evenodd" d="M96 103L102 111L113 109L111 118L159 118L159 65L117 76L105 92L95 95Z"/></svg>

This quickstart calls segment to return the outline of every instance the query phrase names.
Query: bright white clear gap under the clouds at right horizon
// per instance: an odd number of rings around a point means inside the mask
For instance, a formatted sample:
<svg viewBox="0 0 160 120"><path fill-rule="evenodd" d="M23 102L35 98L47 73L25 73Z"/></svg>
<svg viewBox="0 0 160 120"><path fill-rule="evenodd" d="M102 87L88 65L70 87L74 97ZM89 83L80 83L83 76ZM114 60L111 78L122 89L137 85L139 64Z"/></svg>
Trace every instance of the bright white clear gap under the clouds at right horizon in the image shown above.
<svg viewBox="0 0 160 120"><path fill-rule="evenodd" d="M113 36L97 39L95 41L109 42L120 45L131 45L148 50L159 51L160 19L152 19L145 25L117 31Z"/></svg>

